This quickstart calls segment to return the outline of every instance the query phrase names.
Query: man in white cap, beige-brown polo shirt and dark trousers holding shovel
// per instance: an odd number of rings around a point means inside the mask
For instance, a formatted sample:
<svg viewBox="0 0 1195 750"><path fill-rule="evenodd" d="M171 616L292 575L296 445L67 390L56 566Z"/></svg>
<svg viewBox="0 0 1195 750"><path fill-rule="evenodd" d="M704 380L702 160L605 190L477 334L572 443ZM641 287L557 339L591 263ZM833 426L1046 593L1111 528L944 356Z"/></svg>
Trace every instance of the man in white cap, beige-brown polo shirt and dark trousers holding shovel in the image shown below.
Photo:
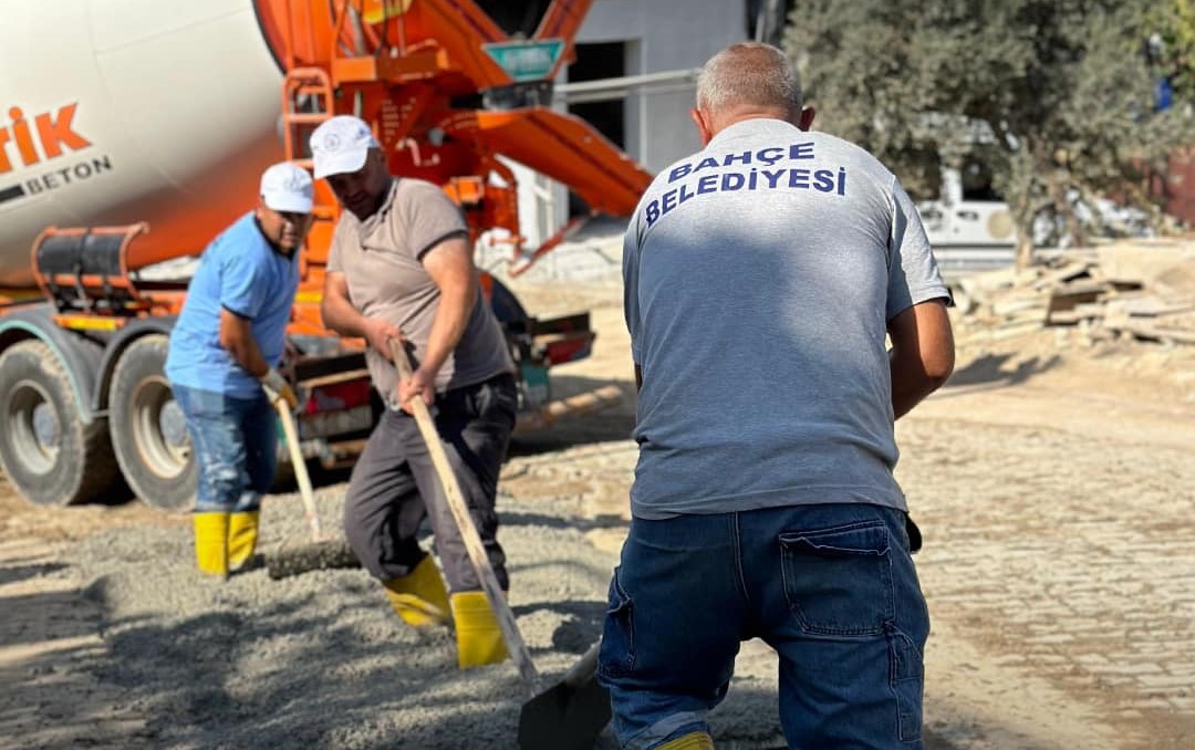
<svg viewBox="0 0 1195 750"><path fill-rule="evenodd" d="M398 615L417 628L456 625L461 669L507 657L410 400L435 405L436 430L490 564L509 586L495 512L498 469L515 423L514 362L482 297L468 230L443 190L394 179L369 127L332 117L311 136L317 178L347 209L327 257L321 313L330 328L366 339L374 387L390 406L353 468L344 531ZM413 374L400 380L391 342ZM416 533L431 522L449 595Z"/></svg>

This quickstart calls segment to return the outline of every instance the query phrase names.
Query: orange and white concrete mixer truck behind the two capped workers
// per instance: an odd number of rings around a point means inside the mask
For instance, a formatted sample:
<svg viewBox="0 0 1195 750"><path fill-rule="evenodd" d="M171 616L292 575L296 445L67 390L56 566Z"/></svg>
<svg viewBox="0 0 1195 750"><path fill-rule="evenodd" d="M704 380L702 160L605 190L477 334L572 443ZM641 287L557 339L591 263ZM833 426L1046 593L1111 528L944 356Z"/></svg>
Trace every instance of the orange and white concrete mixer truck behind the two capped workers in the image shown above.
<svg viewBox="0 0 1195 750"><path fill-rule="evenodd" d="M307 135L354 113L393 173L443 186L471 234L502 229L522 258L508 156L593 211L633 210L650 176L553 111L592 0L525 4L501 26L483 0L0 1L0 467L27 499L65 505L123 480L189 505L195 460L163 376L195 257L256 199L269 164L310 166ZM492 7L488 7L492 6ZM486 12L490 11L490 12ZM507 13L509 16L509 13ZM508 24L509 26L509 24ZM338 207L315 223L288 328L305 396L300 442L351 460L380 408L361 343L319 319ZM558 235L559 236L559 235ZM556 239L558 239L558 236ZM586 314L528 315L483 277L523 375L521 419L547 413L547 369L587 356Z"/></svg>

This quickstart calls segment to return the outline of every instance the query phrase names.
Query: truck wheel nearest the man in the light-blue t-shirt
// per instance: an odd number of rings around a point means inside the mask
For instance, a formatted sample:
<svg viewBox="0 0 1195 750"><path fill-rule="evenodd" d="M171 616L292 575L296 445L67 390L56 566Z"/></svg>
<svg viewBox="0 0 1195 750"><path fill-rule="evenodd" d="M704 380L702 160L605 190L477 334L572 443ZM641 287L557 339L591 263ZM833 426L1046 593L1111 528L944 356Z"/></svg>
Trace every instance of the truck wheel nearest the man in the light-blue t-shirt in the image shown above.
<svg viewBox="0 0 1195 750"><path fill-rule="evenodd" d="M195 499L198 465L183 412L163 374L167 339L137 339L121 354L108 396L112 448L124 480L145 504L186 510Z"/></svg>

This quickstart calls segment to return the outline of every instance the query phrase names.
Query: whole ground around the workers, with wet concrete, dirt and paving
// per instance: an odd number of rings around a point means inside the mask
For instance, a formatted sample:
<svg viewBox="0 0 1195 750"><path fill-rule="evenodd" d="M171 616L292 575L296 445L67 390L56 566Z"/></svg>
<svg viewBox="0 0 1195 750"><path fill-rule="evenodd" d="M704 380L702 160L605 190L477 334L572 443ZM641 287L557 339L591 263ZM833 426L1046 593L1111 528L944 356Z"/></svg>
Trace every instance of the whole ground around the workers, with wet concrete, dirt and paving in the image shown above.
<svg viewBox="0 0 1195 750"><path fill-rule="evenodd" d="M547 683L596 637L626 528L633 386L620 289L516 284L593 311L557 394L623 405L521 438L500 510L511 604ZM950 385L897 425L925 534L931 750L1178 749L1195 738L1195 348L993 340L960 320ZM343 484L318 491L330 528ZM458 672L361 571L196 580L188 518L39 509L0 487L0 748L514 748L509 665ZM294 494L263 547L301 542ZM744 645L719 748L783 746L776 659ZM599 746L608 748L605 737Z"/></svg>

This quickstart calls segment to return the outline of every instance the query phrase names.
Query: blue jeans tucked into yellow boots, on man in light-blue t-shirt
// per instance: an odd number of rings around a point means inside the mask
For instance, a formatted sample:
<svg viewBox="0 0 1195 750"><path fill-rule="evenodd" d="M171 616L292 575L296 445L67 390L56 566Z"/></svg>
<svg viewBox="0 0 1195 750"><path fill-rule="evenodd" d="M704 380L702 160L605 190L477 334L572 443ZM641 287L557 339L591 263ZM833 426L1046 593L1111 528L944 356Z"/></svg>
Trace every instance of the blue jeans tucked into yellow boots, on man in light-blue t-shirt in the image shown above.
<svg viewBox="0 0 1195 750"><path fill-rule="evenodd" d="M195 512L257 510L277 466L277 423L269 400L177 383L171 391L200 462Z"/></svg>

